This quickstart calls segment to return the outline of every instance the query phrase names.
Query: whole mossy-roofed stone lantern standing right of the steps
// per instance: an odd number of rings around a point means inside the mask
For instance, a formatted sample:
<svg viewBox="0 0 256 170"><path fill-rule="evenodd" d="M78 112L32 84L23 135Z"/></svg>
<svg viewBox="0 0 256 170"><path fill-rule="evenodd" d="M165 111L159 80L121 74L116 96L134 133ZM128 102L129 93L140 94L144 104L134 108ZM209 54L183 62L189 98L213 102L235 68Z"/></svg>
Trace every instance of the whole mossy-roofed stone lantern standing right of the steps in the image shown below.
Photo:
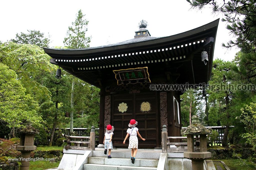
<svg viewBox="0 0 256 170"><path fill-rule="evenodd" d="M207 152L206 135L211 134L212 129L206 128L199 122L197 115L192 116L192 124L186 129L181 129L182 135L187 135L188 151L184 152L184 158L192 161L192 170L204 169L204 160L211 158L211 152ZM200 151L194 149L194 135L200 137Z"/></svg>

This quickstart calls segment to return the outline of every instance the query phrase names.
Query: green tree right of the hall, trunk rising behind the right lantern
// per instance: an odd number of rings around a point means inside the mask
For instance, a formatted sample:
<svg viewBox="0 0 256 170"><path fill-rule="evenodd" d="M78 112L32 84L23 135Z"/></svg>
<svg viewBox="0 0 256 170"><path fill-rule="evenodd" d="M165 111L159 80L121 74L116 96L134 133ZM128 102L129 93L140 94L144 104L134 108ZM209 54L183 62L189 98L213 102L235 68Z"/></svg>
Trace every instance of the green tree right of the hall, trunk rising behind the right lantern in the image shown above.
<svg viewBox="0 0 256 170"><path fill-rule="evenodd" d="M229 61L223 61L216 59L213 62L212 68L212 80L209 81L209 94L208 101L212 103L212 108L209 109L209 121L208 124L226 126L225 133L222 139L222 146L227 146L228 130L231 125L231 116L229 108L231 106L231 100L234 97L232 89L229 88L230 83L226 78L226 72L230 70L232 63ZM219 120L218 120L219 119Z"/></svg>

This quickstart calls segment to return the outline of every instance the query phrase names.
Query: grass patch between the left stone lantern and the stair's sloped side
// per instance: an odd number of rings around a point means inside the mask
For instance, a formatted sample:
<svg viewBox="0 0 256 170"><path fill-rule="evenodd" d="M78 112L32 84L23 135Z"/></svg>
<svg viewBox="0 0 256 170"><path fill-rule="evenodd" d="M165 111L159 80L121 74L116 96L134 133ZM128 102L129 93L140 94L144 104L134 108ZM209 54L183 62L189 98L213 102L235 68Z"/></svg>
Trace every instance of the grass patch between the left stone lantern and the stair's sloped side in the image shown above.
<svg viewBox="0 0 256 170"><path fill-rule="evenodd" d="M49 168L55 168L59 166L60 162L52 163L49 161L30 161L29 170L44 170Z"/></svg>

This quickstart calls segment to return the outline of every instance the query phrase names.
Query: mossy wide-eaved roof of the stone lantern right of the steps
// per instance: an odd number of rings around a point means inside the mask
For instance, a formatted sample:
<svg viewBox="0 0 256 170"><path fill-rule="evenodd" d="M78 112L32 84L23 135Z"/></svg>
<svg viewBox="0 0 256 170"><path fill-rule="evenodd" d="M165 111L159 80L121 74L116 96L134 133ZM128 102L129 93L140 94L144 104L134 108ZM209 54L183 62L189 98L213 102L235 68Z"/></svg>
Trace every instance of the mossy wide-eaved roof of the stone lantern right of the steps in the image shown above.
<svg viewBox="0 0 256 170"><path fill-rule="evenodd" d="M189 125L186 129L181 129L182 135L209 135L211 132L211 128L207 129L204 125L201 125L198 115L192 116L191 125Z"/></svg>

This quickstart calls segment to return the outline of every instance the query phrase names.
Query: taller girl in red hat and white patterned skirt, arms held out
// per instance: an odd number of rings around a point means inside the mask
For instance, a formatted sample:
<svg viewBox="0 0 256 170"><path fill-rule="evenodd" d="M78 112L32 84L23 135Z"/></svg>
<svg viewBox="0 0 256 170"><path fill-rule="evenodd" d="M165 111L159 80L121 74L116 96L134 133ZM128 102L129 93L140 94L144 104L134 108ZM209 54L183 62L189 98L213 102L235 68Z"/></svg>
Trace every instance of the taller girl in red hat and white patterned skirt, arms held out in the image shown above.
<svg viewBox="0 0 256 170"><path fill-rule="evenodd" d="M137 126L138 122L136 122L136 120L132 119L129 123L129 128L127 129L127 135L123 141L123 144L125 144L125 140L127 139L127 137L130 135L130 138L129 138L129 146L128 146L128 149L132 149L131 151L131 160L132 160L132 163L134 164L134 161L135 161L135 156L136 156L136 153L137 153L137 149L138 149L138 138L137 138L137 135L143 140L145 141L146 139L142 138L140 133L139 133L139 129L135 126Z"/></svg>

